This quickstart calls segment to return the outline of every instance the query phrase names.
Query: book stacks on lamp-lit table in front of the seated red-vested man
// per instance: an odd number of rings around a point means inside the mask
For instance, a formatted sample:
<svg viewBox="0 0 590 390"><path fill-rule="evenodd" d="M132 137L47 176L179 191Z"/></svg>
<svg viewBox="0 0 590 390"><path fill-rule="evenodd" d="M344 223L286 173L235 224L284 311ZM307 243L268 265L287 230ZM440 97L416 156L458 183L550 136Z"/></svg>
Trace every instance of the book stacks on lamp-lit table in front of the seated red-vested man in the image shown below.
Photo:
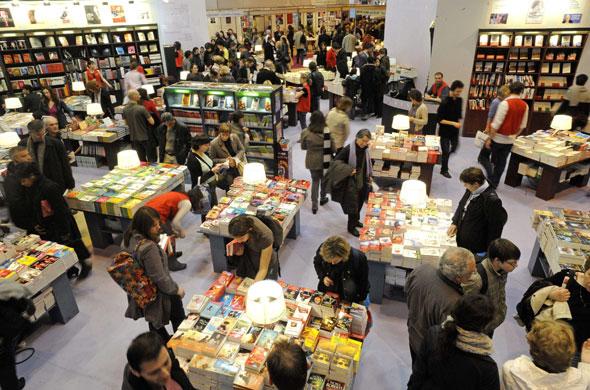
<svg viewBox="0 0 590 390"><path fill-rule="evenodd" d="M396 160L434 164L440 155L440 137L435 135L373 133L369 154L375 160Z"/></svg>

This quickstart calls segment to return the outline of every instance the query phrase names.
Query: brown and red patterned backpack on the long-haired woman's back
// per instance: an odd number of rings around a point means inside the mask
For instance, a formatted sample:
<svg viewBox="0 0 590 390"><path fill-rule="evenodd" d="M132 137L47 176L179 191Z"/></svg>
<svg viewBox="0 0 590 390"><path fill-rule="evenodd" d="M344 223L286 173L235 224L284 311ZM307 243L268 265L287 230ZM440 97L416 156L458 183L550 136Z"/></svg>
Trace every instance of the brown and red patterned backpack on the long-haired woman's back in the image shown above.
<svg viewBox="0 0 590 390"><path fill-rule="evenodd" d="M131 297L141 309L156 299L156 285L146 275L143 264L137 258L137 251L145 240L141 240L135 247L135 252L127 251L117 253L113 264L107 268L111 278L128 296Z"/></svg>

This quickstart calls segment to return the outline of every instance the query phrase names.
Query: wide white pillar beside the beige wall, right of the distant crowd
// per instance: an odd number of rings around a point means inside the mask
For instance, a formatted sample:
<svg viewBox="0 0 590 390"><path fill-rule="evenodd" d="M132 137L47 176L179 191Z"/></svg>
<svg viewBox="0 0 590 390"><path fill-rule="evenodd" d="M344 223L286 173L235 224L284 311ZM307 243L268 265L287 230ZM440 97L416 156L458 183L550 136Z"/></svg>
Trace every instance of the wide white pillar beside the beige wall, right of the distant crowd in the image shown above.
<svg viewBox="0 0 590 390"><path fill-rule="evenodd" d="M438 0L388 0L385 18L385 47L398 64L418 72L416 87L423 90L430 69L430 24Z"/></svg>

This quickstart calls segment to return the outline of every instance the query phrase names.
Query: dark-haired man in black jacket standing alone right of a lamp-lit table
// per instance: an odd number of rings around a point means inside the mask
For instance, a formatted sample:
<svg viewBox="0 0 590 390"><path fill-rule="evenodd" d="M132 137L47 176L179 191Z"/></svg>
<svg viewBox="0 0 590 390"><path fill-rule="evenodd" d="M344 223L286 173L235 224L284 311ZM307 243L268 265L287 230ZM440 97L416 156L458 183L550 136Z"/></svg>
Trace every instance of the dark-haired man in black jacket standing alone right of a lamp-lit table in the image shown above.
<svg viewBox="0 0 590 390"><path fill-rule="evenodd" d="M447 233L457 236L457 246L474 255L483 254L492 241L502 236L508 214L481 169L467 168L459 180L466 190Z"/></svg>

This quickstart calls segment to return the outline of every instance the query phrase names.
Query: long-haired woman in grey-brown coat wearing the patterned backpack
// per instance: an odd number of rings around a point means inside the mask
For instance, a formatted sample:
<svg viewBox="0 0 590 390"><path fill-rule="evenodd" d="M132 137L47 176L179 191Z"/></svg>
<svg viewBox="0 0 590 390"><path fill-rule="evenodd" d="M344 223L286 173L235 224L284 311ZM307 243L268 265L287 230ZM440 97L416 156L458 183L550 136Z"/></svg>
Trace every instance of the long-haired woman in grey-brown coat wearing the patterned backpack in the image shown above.
<svg viewBox="0 0 590 390"><path fill-rule="evenodd" d="M160 335L167 342L170 335L166 325L171 322L176 332L184 320L182 298L184 289L178 285L168 270L168 255L162 250L160 242L160 214L151 207L143 206L135 212L131 226L123 235L121 246L133 253L143 266L145 275L156 285L156 299L142 309L130 296L127 297L126 318L137 320L145 318L150 331Z"/></svg>

